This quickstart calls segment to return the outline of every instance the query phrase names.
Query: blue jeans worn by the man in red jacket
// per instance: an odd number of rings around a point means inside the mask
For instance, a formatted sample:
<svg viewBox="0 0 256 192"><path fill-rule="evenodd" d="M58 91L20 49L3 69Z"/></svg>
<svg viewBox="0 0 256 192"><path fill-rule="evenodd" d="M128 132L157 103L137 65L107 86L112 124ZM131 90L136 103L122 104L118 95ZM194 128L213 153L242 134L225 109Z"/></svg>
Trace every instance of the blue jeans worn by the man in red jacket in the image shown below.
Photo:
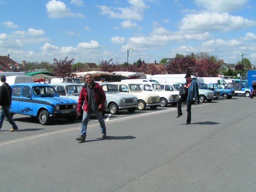
<svg viewBox="0 0 256 192"><path fill-rule="evenodd" d="M102 130L102 134L106 133L106 126L105 126L105 122L102 116L102 111L99 110L95 110L95 111L88 111L88 113L86 111L84 111L83 113L83 120L81 123L81 135L84 135L86 137L86 130L87 130L87 124L89 122L90 116L91 114L94 113L99 121L99 125L100 128Z"/></svg>

